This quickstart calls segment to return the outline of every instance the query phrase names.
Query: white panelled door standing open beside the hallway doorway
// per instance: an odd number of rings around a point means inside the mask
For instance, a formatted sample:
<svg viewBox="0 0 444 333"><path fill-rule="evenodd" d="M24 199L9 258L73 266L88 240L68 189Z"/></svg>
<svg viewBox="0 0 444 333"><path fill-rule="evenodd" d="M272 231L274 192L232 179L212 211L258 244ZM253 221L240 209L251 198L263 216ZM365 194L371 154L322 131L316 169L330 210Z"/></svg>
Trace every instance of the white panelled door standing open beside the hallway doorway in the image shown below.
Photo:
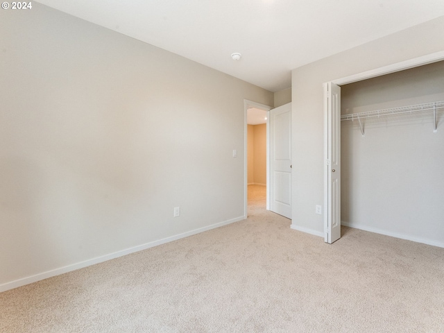
<svg viewBox="0 0 444 333"><path fill-rule="evenodd" d="M291 103L270 110L270 210L291 219Z"/></svg>

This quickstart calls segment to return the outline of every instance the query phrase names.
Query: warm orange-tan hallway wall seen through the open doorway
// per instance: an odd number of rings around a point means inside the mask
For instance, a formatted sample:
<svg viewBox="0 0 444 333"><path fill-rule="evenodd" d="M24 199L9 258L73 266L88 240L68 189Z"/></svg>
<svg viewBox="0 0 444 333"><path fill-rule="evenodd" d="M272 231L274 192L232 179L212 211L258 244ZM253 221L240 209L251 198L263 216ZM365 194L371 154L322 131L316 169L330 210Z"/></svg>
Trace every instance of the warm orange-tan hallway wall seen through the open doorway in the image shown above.
<svg viewBox="0 0 444 333"><path fill-rule="evenodd" d="M266 185L266 123L248 125L248 184Z"/></svg>

